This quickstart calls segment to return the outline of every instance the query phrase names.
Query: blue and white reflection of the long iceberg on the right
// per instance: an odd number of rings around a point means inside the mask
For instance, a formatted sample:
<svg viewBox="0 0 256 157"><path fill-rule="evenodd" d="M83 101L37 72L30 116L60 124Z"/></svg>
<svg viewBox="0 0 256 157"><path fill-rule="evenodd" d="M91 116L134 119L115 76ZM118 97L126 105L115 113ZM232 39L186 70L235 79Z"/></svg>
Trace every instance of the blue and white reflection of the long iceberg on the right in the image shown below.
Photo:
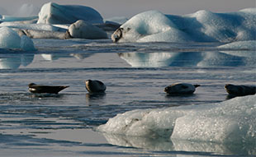
<svg viewBox="0 0 256 157"><path fill-rule="evenodd" d="M256 65L254 52L118 53L131 67L236 67Z"/></svg>

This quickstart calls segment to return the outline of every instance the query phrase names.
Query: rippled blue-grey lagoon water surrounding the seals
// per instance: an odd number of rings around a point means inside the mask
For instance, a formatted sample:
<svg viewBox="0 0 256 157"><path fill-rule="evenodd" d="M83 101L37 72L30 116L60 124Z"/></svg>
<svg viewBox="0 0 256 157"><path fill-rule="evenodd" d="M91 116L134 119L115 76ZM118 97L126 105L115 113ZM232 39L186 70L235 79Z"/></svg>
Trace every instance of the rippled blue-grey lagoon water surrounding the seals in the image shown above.
<svg viewBox="0 0 256 157"><path fill-rule="evenodd" d="M200 106L229 99L224 85L255 85L256 53L220 43L126 43L111 39L33 39L36 52L0 50L1 156L254 156L256 145L171 141L96 132L134 109ZM107 85L89 95L84 81ZM200 84L194 95L168 96L174 82ZM31 82L69 85L34 95Z"/></svg>

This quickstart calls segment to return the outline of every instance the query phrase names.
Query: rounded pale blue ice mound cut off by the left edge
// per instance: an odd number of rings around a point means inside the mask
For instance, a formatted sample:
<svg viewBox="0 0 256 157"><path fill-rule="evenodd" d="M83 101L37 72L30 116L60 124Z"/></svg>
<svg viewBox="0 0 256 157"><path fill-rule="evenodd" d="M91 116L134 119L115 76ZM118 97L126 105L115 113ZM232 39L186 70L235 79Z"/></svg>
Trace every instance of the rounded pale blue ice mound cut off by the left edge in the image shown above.
<svg viewBox="0 0 256 157"><path fill-rule="evenodd" d="M26 51L34 51L33 41L26 35L21 37L16 31L7 28L0 28L0 48L21 48Z"/></svg>

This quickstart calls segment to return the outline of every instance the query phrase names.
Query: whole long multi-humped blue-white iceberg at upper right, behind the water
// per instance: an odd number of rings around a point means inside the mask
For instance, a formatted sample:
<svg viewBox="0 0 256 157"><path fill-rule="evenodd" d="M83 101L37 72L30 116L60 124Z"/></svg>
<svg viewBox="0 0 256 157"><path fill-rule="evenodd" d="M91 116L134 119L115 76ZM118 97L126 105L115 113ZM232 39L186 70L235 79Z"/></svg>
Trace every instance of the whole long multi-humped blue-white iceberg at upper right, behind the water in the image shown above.
<svg viewBox="0 0 256 157"><path fill-rule="evenodd" d="M142 12L111 36L114 42L233 42L256 39L256 8L185 16Z"/></svg>

